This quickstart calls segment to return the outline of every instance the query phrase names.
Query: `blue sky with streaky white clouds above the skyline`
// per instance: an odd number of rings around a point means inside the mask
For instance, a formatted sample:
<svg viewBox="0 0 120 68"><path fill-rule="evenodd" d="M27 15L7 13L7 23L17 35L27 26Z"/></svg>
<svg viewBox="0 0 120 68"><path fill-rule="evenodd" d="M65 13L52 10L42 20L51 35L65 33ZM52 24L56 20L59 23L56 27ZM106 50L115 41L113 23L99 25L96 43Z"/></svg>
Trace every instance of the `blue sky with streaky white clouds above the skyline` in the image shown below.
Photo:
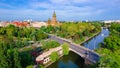
<svg viewBox="0 0 120 68"><path fill-rule="evenodd" d="M120 0L0 0L0 20L118 20Z"/></svg>

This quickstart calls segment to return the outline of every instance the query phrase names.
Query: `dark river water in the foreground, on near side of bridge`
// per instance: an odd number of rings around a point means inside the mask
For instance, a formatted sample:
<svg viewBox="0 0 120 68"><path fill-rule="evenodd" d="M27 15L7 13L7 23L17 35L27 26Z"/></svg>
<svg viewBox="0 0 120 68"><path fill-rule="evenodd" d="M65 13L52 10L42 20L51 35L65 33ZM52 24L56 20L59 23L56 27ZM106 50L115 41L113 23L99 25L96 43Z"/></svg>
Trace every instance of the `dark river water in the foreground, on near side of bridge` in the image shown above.
<svg viewBox="0 0 120 68"><path fill-rule="evenodd" d="M61 57L48 68L84 68L84 59L70 51L69 55Z"/></svg>

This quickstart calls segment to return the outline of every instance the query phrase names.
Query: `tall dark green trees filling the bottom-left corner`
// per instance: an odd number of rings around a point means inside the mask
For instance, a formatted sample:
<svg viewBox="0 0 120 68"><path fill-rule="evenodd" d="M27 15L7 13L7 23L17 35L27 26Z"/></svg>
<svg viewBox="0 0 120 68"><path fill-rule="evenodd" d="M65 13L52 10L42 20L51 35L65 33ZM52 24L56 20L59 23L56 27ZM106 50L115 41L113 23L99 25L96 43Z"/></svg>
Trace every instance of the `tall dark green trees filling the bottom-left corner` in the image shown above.
<svg viewBox="0 0 120 68"><path fill-rule="evenodd" d="M19 52L10 44L0 42L0 68L22 68Z"/></svg>

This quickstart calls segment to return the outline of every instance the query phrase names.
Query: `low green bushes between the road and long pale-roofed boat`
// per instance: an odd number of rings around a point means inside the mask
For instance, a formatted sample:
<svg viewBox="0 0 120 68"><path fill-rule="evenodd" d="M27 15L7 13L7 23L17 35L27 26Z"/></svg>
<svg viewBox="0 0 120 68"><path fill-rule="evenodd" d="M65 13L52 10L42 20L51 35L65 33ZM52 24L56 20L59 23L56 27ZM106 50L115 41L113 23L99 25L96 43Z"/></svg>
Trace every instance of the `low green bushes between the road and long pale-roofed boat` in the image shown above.
<svg viewBox="0 0 120 68"><path fill-rule="evenodd" d="M58 43L57 41L54 40L46 40L42 42L42 48L43 49L50 49L50 48L55 48L60 46L60 43Z"/></svg>

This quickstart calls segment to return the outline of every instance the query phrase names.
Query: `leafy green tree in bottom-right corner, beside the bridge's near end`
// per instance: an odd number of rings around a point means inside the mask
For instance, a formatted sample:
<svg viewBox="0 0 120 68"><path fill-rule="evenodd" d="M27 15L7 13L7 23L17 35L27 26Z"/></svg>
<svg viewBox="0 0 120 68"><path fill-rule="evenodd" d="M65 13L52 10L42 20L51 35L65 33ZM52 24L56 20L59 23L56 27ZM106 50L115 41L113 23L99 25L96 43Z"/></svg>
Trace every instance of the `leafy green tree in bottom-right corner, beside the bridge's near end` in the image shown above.
<svg viewBox="0 0 120 68"><path fill-rule="evenodd" d="M118 53L112 53L108 49L101 50L102 56L99 61L99 67L110 67L119 68L120 67L120 56ZM113 56L114 55L114 56Z"/></svg>

